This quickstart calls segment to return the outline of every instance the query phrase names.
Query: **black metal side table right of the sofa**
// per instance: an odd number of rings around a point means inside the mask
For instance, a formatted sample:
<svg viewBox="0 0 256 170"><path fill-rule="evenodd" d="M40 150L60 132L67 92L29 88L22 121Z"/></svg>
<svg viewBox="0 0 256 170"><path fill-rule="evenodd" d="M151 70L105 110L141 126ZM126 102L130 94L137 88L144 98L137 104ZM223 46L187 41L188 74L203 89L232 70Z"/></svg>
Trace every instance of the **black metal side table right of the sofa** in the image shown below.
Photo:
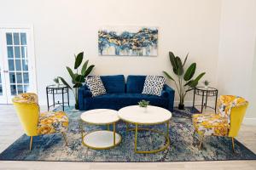
<svg viewBox="0 0 256 170"><path fill-rule="evenodd" d="M201 96L201 105L195 105L195 95ZM215 97L214 108L207 105L208 97ZM218 99L218 89L217 88L196 87L196 88L194 88L193 108L195 108L195 106L201 106L201 113L202 113L203 107L205 107L205 108L208 107L208 108L213 109L216 113L217 99ZM204 103L204 102L206 102L206 103Z"/></svg>

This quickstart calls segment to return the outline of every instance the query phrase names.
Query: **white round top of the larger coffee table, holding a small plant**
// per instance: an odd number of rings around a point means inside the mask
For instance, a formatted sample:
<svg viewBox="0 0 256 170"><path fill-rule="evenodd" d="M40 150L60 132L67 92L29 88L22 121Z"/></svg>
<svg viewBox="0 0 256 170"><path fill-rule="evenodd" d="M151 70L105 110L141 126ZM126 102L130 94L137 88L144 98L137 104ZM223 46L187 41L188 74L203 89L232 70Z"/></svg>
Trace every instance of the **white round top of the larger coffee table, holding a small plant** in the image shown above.
<svg viewBox="0 0 256 170"><path fill-rule="evenodd" d="M131 105L119 110L119 118L125 122L136 124L160 124L172 118L171 111L148 105L147 111L139 105Z"/></svg>

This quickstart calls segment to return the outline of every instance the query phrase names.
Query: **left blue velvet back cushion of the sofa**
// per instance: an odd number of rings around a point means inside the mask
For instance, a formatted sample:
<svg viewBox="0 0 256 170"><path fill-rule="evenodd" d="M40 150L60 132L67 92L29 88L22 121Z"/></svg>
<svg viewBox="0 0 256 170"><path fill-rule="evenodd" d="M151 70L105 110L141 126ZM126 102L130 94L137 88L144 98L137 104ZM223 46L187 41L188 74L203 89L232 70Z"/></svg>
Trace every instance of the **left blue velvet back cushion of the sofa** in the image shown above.
<svg viewBox="0 0 256 170"><path fill-rule="evenodd" d="M101 76L107 94L125 93L125 77L124 75Z"/></svg>

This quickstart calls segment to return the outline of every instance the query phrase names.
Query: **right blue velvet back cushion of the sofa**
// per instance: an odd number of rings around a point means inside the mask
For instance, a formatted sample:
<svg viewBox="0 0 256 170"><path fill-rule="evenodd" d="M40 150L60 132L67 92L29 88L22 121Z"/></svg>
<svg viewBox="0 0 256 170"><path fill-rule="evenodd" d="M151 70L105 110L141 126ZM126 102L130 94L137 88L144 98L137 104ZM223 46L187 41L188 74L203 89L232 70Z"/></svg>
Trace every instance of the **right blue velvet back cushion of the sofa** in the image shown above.
<svg viewBox="0 0 256 170"><path fill-rule="evenodd" d="M145 78L146 76L128 76L126 82L126 93L141 94L143 92Z"/></svg>

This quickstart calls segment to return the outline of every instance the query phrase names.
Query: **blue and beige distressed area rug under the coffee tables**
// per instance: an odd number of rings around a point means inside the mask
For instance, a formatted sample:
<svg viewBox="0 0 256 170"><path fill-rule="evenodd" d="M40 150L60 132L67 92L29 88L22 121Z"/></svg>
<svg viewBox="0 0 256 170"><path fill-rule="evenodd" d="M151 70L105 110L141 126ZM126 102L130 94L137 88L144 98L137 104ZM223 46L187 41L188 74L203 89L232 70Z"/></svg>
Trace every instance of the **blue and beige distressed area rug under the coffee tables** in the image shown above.
<svg viewBox="0 0 256 170"><path fill-rule="evenodd" d="M232 152L231 140L223 137L207 137L198 149L198 138L193 136L191 108L172 112L170 125L171 144L167 150L156 154L136 154L134 152L134 132L125 132L125 123L118 122L117 131L122 142L110 150L91 150L81 144L79 116L81 111L65 108L69 116L67 133L68 146L61 134L34 137L32 151L29 151L29 137L25 134L0 154L0 160L9 161L217 161L217 160L255 160L256 155L236 140L236 153ZM84 126L85 131L105 129L105 126ZM152 126L162 131L164 125ZM138 150L157 149L164 144L164 137L152 132L139 132Z"/></svg>

